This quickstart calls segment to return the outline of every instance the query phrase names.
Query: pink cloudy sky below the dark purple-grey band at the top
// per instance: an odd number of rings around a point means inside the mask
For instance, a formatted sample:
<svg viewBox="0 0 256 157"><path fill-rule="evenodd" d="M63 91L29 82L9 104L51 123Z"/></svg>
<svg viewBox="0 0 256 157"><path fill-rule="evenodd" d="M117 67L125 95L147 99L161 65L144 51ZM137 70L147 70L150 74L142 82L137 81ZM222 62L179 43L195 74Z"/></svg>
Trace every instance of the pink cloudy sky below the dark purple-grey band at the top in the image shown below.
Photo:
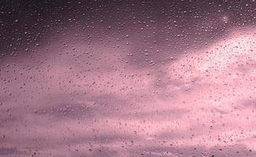
<svg viewBox="0 0 256 157"><path fill-rule="evenodd" d="M90 47L74 32L6 60L0 155L256 156L255 33L143 68L134 41Z"/></svg>

